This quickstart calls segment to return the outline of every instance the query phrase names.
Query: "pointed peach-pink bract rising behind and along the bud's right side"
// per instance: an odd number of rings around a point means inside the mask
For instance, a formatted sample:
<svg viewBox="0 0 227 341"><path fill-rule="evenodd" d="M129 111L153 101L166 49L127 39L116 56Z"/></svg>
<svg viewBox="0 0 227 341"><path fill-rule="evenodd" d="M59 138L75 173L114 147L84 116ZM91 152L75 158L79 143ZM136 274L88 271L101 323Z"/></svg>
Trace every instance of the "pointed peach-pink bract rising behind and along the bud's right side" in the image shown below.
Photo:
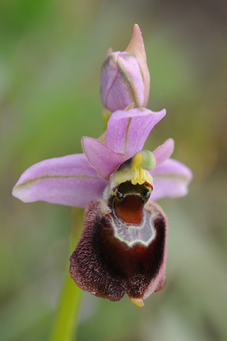
<svg viewBox="0 0 227 341"><path fill-rule="evenodd" d="M126 51L131 53L132 55L135 55L136 59L138 60L138 63L140 64L140 68L141 68L142 75L143 75L143 83L144 83L143 107L146 107L148 103L149 90L150 90L150 73L148 70L147 56L145 53L142 33L137 23L135 23L133 27L133 37L131 39L131 42L128 45L128 48L126 48Z"/></svg>

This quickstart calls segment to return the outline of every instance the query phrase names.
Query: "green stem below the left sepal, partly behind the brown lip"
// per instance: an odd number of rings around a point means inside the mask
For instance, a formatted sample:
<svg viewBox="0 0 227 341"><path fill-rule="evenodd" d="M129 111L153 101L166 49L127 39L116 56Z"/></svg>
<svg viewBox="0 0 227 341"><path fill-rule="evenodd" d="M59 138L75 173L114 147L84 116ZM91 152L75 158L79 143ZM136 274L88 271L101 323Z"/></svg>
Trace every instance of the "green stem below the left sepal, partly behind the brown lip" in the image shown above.
<svg viewBox="0 0 227 341"><path fill-rule="evenodd" d="M72 254L77 244L83 226L83 211L73 207L71 212L70 254ZM65 281L62 286L49 341L76 340L77 320L81 301L82 291L70 278L69 262L67 262Z"/></svg>

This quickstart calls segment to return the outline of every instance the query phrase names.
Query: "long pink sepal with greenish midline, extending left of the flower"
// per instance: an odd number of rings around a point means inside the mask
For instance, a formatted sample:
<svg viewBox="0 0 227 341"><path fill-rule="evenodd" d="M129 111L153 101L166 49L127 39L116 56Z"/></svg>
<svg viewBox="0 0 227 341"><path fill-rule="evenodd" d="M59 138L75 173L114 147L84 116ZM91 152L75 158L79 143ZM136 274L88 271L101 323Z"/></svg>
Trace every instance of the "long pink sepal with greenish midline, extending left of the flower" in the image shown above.
<svg viewBox="0 0 227 341"><path fill-rule="evenodd" d="M102 197L106 184L84 154L74 154L35 163L21 175L12 194L23 202L85 207Z"/></svg>

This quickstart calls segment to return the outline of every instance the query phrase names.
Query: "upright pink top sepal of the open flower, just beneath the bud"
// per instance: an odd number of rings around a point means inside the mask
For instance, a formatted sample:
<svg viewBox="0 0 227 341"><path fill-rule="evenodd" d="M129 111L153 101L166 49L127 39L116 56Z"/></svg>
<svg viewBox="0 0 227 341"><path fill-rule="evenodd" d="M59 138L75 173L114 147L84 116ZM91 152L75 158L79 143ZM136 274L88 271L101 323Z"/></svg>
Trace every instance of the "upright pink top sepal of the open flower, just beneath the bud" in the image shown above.
<svg viewBox="0 0 227 341"><path fill-rule="evenodd" d="M131 158L143 149L151 129L165 116L165 109L152 112L145 108L114 112L107 125L106 146Z"/></svg>

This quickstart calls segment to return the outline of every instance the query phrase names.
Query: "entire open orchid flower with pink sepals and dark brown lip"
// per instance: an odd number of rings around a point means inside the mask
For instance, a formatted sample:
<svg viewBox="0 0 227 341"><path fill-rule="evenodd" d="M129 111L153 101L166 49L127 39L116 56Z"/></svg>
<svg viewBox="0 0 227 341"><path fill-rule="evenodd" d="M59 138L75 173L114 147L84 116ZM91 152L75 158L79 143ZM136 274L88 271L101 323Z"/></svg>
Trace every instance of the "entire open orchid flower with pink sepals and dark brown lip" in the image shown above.
<svg viewBox="0 0 227 341"><path fill-rule="evenodd" d="M153 153L143 145L165 109L118 110L101 141L84 137L84 153L28 168L13 188L23 202L86 207L84 231L70 257L79 288L136 305L165 283L167 220L153 200L182 197L192 172L170 158L174 141Z"/></svg>

